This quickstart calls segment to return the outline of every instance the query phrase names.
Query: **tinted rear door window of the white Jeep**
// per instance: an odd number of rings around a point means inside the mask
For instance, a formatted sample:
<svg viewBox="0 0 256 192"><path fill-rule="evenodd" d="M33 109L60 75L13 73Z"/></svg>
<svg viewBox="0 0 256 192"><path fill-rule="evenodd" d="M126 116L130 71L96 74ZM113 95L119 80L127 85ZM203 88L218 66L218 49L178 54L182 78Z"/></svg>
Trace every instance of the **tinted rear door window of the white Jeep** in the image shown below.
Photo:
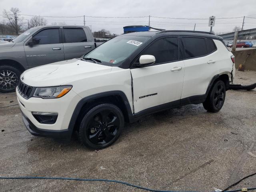
<svg viewBox="0 0 256 192"><path fill-rule="evenodd" d="M186 58L199 57L207 54L204 38L183 37Z"/></svg>

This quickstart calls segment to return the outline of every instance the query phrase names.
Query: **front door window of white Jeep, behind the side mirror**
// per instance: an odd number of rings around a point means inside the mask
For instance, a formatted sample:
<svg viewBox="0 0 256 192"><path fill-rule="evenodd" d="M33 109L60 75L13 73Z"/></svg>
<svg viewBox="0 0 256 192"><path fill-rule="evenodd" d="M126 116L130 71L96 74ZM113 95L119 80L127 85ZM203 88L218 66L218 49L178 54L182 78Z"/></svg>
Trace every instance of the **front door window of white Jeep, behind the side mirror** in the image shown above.
<svg viewBox="0 0 256 192"><path fill-rule="evenodd" d="M178 60L178 38L170 37L156 40L142 52L142 55L154 55L156 64Z"/></svg>

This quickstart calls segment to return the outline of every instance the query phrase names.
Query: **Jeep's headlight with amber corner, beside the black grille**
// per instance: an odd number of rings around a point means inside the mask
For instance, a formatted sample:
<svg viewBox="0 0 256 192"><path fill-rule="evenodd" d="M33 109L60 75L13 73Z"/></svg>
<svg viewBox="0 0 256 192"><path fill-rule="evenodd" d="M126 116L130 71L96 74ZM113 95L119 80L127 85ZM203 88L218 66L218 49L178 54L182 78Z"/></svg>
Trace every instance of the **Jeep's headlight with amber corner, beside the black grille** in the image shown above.
<svg viewBox="0 0 256 192"><path fill-rule="evenodd" d="M41 97L44 99L60 98L66 95L72 88L72 85L63 85L56 87L37 87L34 97Z"/></svg>

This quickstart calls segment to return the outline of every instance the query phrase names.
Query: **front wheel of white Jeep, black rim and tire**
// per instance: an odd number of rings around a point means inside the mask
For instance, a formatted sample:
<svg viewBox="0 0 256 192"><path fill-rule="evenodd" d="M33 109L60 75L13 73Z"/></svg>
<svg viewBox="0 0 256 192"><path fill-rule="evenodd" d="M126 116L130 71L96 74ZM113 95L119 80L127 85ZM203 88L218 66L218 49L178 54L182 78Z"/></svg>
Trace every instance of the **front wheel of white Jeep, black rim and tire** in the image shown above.
<svg viewBox="0 0 256 192"><path fill-rule="evenodd" d="M113 104L99 104L82 118L79 140L88 148L100 149L114 143L124 128L124 115Z"/></svg>

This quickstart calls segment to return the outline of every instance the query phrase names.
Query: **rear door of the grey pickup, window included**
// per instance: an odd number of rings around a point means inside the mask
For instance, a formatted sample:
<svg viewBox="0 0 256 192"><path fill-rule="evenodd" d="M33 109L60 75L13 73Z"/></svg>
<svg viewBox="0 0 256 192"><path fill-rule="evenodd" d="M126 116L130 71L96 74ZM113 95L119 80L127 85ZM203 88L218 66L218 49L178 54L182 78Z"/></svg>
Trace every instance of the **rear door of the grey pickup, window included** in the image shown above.
<svg viewBox="0 0 256 192"><path fill-rule="evenodd" d="M87 28L63 27L62 35L65 59L80 58L95 48Z"/></svg>

